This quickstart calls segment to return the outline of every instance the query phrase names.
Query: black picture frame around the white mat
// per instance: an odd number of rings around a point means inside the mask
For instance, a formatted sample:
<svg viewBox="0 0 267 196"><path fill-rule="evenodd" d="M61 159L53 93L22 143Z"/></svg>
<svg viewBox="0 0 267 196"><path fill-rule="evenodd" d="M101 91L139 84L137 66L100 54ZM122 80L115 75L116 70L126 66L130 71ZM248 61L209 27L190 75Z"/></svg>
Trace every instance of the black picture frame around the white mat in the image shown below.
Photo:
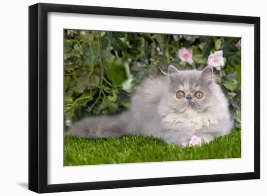
<svg viewBox="0 0 267 196"><path fill-rule="evenodd" d="M254 25L254 172L48 185L48 12L247 23ZM253 116L252 116L253 115ZM37 193L260 179L260 17L82 5L29 6L29 189Z"/></svg>

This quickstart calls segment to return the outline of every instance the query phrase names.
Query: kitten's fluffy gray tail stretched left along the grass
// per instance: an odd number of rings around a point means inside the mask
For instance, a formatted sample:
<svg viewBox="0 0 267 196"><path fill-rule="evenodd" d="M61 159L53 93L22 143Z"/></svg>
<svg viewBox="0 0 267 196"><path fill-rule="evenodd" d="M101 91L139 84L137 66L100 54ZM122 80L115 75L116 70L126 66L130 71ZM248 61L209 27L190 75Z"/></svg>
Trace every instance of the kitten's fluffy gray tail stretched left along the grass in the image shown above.
<svg viewBox="0 0 267 196"><path fill-rule="evenodd" d="M125 134L130 119L130 111L111 116L85 117L75 123L66 134L90 138L120 137Z"/></svg>

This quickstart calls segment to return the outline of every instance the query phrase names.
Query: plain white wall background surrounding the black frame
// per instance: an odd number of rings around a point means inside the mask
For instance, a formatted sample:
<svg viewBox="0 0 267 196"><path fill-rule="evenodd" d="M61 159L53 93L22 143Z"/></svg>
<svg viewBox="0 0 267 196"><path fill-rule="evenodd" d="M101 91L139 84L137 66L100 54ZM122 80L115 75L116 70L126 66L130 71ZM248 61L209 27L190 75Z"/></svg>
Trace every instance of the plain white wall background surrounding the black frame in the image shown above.
<svg viewBox="0 0 267 196"><path fill-rule="evenodd" d="M28 191L28 6L36 0L1 2L0 10L0 195L31 196ZM55 193L61 196L101 195L255 195L266 193L267 184L267 12L264 1L242 0L44 0L65 3L137 9L261 17L261 180L138 187ZM6 35L8 36L6 37ZM251 65L253 66L253 65ZM255 100L257 101L257 100Z"/></svg>

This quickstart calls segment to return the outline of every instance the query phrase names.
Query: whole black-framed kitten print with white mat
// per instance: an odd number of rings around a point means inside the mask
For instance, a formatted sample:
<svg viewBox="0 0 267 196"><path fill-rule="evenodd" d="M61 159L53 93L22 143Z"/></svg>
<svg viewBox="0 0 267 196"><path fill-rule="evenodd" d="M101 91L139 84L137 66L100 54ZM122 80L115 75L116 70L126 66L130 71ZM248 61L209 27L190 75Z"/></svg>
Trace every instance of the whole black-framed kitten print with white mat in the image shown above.
<svg viewBox="0 0 267 196"><path fill-rule="evenodd" d="M260 18L29 7L29 189L260 178Z"/></svg>

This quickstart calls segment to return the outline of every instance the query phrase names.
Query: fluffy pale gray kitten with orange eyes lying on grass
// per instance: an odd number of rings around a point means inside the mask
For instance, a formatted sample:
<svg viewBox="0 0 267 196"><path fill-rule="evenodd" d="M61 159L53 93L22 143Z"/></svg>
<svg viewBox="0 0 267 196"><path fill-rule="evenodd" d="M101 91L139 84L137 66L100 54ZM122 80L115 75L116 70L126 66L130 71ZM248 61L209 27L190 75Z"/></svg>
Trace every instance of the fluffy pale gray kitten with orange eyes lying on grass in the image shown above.
<svg viewBox="0 0 267 196"><path fill-rule="evenodd" d="M169 74L147 78L137 87L130 109L118 115L86 117L67 134L90 138L152 135L181 147L190 144L193 136L209 143L232 128L227 98L214 80L213 69L180 71L170 65Z"/></svg>

